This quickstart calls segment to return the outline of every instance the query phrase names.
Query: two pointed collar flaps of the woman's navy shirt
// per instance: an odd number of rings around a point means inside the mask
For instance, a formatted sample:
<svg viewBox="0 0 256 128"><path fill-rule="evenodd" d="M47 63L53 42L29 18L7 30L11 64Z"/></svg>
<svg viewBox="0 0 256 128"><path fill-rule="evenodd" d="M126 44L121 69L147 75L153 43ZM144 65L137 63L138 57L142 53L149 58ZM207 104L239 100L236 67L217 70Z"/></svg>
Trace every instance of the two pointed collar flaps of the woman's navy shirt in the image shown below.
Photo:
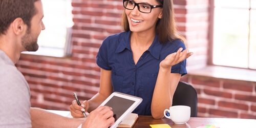
<svg viewBox="0 0 256 128"><path fill-rule="evenodd" d="M119 40L120 43L115 51L116 53L122 52L125 48L132 51L130 45L130 35L131 31L125 32L123 34L123 36ZM160 44L160 41L158 40L158 35L156 35L152 45L150 46L150 48L148 48L147 51L150 52L154 58L159 59L161 49L162 44Z"/></svg>

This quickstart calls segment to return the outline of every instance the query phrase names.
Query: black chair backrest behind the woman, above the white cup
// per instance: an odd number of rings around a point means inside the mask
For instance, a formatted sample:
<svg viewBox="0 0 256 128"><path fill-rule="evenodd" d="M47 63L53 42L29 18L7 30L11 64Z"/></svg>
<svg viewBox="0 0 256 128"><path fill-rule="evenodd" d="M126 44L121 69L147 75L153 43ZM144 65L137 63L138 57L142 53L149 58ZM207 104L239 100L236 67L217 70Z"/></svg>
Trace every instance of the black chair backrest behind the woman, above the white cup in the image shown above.
<svg viewBox="0 0 256 128"><path fill-rule="evenodd" d="M173 106L190 106L190 117L197 117L197 91L189 83L179 81L173 97Z"/></svg>

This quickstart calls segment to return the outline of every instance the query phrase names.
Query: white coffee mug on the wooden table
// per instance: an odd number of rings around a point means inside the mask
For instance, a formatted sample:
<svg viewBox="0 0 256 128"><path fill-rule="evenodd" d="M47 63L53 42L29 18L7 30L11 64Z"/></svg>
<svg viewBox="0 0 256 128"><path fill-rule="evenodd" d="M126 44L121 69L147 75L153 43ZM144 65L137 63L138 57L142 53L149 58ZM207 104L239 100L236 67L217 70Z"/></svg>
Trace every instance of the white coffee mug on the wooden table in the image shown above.
<svg viewBox="0 0 256 128"><path fill-rule="evenodd" d="M169 112L169 116L166 115L166 112ZM184 124L190 118L190 106L171 106L169 109L165 109L163 114L166 118L171 119L176 124Z"/></svg>

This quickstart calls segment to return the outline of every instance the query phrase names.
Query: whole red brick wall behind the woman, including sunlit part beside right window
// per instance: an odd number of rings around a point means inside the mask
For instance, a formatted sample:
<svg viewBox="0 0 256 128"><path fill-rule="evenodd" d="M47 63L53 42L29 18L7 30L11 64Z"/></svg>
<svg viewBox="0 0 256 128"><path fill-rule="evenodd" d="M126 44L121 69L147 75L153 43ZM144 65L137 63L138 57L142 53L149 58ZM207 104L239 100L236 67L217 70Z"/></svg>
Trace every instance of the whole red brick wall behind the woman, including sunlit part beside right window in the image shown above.
<svg viewBox="0 0 256 128"><path fill-rule="evenodd" d="M194 55L188 69L207 65L209 56L209 1L175 0L179 31ZM122 1L73 0L72 56L55 58L23 54L17 67L31 88L32 106L68 110L77 92L90 99L99 89L100 69L95 63L102 40L121 32ZM198 91L198 116L255 118L255 83L186 75Z"/></svg>

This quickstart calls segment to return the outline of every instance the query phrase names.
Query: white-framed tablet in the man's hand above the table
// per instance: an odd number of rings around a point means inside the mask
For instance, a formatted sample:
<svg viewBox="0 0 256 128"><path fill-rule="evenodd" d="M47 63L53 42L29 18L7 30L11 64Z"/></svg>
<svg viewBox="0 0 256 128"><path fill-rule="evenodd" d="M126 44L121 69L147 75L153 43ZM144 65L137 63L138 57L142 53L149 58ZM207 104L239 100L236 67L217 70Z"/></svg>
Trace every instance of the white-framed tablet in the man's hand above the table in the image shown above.
<svg viewBox="0 0 256 128"><path fill-rule="evenodd" d="M141 103L142 98L113 92L99 106L110 106L113 109L115 123L110 128L115 128L118 124Z"/></svg>

